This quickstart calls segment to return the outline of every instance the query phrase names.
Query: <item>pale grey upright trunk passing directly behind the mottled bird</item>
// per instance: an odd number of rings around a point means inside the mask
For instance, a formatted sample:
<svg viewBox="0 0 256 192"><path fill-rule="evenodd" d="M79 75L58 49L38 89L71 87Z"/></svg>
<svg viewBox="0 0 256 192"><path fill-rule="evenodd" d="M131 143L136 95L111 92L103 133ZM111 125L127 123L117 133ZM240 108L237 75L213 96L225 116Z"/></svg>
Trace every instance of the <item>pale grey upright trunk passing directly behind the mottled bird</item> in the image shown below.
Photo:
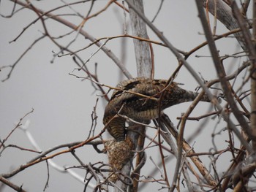
<svg viewBox="0 0 256 192"><path fill-rule="evenodd" d="M134 4L140 12L144 13L143 8L143 0L127 0L130 3ZM136 14L136 12L129 7L129 17L130 23L132 27L132 35L135 37L142 37L148 39L148 34L146 31L146 23ZM151 77L151 57L150 57L150 49L148 42L142 42L137 39L133 40L135 45L135 58L137 64L137 72L138 77ZM129 129L132 129L132 123L129 125ZM135 131L128 131L127 138L129 142L132 143L133 150L142 150L144 145L144 136L145 136L145 127L144 126L136 126ZM138 132L140 134L138 134ZM138 142L140 141L140 142ZM136 164L140 163L140 157L142 155L138 155L138 159ZM130 172L132 169L132 158L131 160L123 167L121 170L122 174L127 175L129 177ZM129 188L129 191L138 191L138 182L136 177L140 174L140 171L136 172L137 174L134 175L133 185ZM137 178L138 179L138 178ZM121 188L123 191L127 191L127 185L121 183L121 181L117 181L116 185ZM119 191L118 188L115 188L115 191Z"/></svg>

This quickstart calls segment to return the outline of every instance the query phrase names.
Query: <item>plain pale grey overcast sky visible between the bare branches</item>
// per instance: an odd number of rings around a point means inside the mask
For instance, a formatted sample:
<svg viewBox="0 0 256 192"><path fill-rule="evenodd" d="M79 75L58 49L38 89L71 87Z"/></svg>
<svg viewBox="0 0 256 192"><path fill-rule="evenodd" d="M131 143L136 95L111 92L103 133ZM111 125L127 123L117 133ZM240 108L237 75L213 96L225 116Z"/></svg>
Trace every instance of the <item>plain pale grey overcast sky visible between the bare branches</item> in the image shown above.
<svg viewBox="0 0 256 192"><path fill-rule="evenodd" d="M32 1L33 4L45 11L53 7L64 4L63 1ZM69 1L73 2L73 1ZM107 1L96 1L92 12L97 12L99 9L105 7ZM146 16L149 20L154 18L157 12L160 1L144 1ZM86 15L89 10L90 3L79 4L73 6L76 12L81 15ZM17 5L17 9L20 8ZM12 2L1 1L1 15L10 15L12 12ZM58 10L57 13L74 13L68 7ZM21 54L24 53L35 39L42 36L42 23L37 22L29 27L20 38L10 43L12 39L20 34L25 26L37 18L34 12L23 9L13 15L12 18L0 18L0 66L8 66L15 63ZM81 19L74 16L64 16L69 22L78 25ZM129 28L129 18L127 20L127 28ZM212 18L211 18L212 20ZM70 28L56 23L53 20L46 20L49 33L53 37L59 37L62 34L67 34L71 31ZM123 10L112 4L105 12L86 22L83 29L94 36L113 37L122 34L122 25L124 23ZM200 26L200 20L197 17L197 9L195 1L164 1L163 7L154 21L154 24L167 37L167 39L179 50L189 51L196 47L201 42L205 41L203 30ZM225 33L227 29L221 23L217 23L217 34ZM131 34L131 31L128 31ZM59 43L67 46L76 33L69 37L59 39ZM156 41L156 35L148 29L148 36ZM133 77L137 76L135 55L132 39L125 39L126 54L125 64L127 69ZM89 40L79 36L71 45L72 50L79 50L80 48L89 45ZM121 58L121 43L122 39L113 39L106 45L118 58ZM217 41L217 47L220 55L238 52L239 47L236 41L232 38L222 39ZM98 47L91 46L86 50L78 53L83 61L86 61ZM155 78L167 79L176 69L178 62L175 56L167 50L166 47L153 45L155 58ZM91 112L94 110L97 99L97 128L99 131L103 128L102 117L104 106L106 102L101 97L101 93L94 91L89 80L80 80L69 73L86 77L83 72L78 72L77 66L72 61L72 56L66 55L62 57L53 57L53 53L58 53L59 48L54 45L50 39L45 38L38 42L29 53L27 53L15 66L14 71L9 80L0 82L0 138L1 140L7 137L10 131L15 127L15 123L22 118L31 109L34 112L28 115L24 120L30 121L29 131L34 139L37 141L42 150L61 145L69 142L83 141L88 137L89 129L91 127ZM196 55L201 55L197 57ZM188 59L189 64L193 66L196 72L200 72L206 80L211 80L217 77L217 74L212 64L211 58L208 57L208 47L203 47L197 53L191 55ZM51 62L53 61L53 62ZM86 66L94 72L94 64L97 63L97 74L99 82L104 82L107 85L115 86L120 81L120 70L101 50L94 55ZM242 61L234 61L228 59L225 66L231 73L235 71ZM74 70L75 69L75 70ZM4 80L7 77L9 69L2 69L0 72L0 79ZM125 77L122 77L125 79ZM237 81L241 81L238 79ZM178 73L176 82L184 83L182 88L188 90L195 90L197 82L187 72L187 69L182 68ZM108 89L105 89L108 91ZM110 95L109 95L110 96ZM179 104L167 109L165 112L169 115L174 124L177 125L176 118L185 112L189 107L187 104ZM200 103L197 109L192 112L192 116L202 115L206 111L211 110L211 104ZM196 128L200 127L199 122L189 121L187 124L185 138L189 137L195 132ZM197 152L208 151L212 147L211 133L221 131L225 127L225 123L218 123L217 118L210 119L208 128L203 129L199 137L192 139L190 142ZM154 136L155 131L148 130L151 137ZM225 134L224 134L225 135ZM219 144L219 149L227 147L225 143L226 136L219 135L215 142ZM108 134L103 134L103 138L109 138ZM25 148L33 148L24 132L20 129L16 130L7 140L7 144L18 145ZM105 161L106 155L98 154L93 147L85 146L76 150L76 153L83 160L85 164ZM154 158L154 161L159 161L159 150L157 147L152 147L147 152L148 157ZM16 148L9 148L4 150L0 157L0 172L6 173L15 169L20 164L25 164L37 154L21 151ZM166 153L166 155L169 155ZM229 159L223 155L222 166L219 166L218 171L225 170L225 166L229 163ZM203 160L208 163L210 159L206 156ZM72 155L65 154L53 159L56 164L60 166L79 165L78 161ZM173 170L176 161L167 163L167 167ZM148 170L153 167L149 159L146 166L142 169L143 174L147 175ZM75 169L81 177L84 177L85 170ZM171 172L170 172L171 175ZM171 176L170 176L171 177ZM47 166L45 162L30 167L29 169L20 172L15 177L10 178L10 181L16 185L23 185L27 191L42 191L47 180ZM151 190L157 191L161 185L148 185ZM5 187L4 191L12 191L9 187ZM79 183L68 174L62 174L55 169L50 168L49 187L46 191L83 191L83 183ZM185 191L185 189L184 189Z"/></svg>

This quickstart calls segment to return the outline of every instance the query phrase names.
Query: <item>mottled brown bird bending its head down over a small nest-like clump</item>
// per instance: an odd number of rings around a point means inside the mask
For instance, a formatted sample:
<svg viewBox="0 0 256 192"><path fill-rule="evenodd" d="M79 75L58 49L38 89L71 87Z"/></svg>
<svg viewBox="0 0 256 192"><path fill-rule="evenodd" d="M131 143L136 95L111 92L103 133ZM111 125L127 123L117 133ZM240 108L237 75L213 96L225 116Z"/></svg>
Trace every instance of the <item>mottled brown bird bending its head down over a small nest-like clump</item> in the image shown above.
<svg viewBox="0 0 256 192"><path fill-rule="evenodd" d="M162 95L162 96L161 96ZM127 118L149 124L168 107L193 101L198 93L187 91L177 82L136 77L116 85L105 107L103 124L117 142L125 139ZM206 94L200 101L211 102Z"/></svg>

